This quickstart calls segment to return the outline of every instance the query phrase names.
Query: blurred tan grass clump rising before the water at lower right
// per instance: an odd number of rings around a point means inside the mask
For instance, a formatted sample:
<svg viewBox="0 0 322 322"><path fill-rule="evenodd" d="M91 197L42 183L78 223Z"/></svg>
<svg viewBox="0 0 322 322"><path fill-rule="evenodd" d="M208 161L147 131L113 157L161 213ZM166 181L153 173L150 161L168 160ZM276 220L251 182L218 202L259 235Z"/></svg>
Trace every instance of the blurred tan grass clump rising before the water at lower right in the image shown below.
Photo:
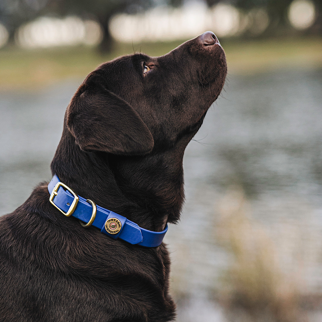
<svg viewBox="0 0 322 322"><path fill-rule="evenodd" d="M220 294L230 321L304 322L298 277L285 275L277 245L265 229L249 219L250 209L240 190L224 198L217 239L231 254Z"/></svg>

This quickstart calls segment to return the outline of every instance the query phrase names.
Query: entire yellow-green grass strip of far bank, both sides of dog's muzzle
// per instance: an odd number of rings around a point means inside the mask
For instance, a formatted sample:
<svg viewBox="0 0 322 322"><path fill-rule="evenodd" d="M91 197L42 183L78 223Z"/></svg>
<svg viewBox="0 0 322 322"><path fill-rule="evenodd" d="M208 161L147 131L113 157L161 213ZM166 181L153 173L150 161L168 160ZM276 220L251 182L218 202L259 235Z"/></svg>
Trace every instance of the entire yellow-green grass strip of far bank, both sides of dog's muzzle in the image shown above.
<svg viewBox="0 0 322 322"><path fill-rule="evenodd" d="M163 55L182 41L168 43L120 44L101 55L96 48L65 47L0 50L0 90L36 90L54 82L84 77L100 63L133 51ZM322 67L321 38L223 41L231 74L250 74L278 68Z"/></svg>

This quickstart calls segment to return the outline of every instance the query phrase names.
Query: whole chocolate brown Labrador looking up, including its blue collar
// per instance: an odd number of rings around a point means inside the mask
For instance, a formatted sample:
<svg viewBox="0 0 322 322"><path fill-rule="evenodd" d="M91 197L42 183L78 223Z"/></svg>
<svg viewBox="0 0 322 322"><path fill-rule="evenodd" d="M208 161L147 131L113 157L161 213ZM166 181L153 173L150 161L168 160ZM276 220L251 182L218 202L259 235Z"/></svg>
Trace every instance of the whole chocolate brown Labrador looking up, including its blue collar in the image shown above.
<svg viewBox="0 0 322 322"><path fill-rule="evenodd" d="M119 57L86 77L66 110L53 180L0 219L0 321L175 318L161 242L184 201L185 147L226 70L223 48L205 32L164 56ZM60 196L70 201L58 205Z"/></svg>

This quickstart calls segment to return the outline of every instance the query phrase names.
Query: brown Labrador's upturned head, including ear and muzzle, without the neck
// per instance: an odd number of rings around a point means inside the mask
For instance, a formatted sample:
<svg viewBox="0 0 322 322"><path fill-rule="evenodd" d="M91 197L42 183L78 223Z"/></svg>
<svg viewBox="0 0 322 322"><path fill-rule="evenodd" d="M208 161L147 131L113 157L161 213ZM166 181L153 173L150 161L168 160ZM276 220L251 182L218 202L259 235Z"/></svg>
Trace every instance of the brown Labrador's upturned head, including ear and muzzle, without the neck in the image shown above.
<svg viewBox="0 0 322 322"><path fill-rule="evenodd" d="M87 76L67 109L67 128L84 151L130 156L169 149L183 137L187 144L225 76L212 32L164 56L123 56Z"/></svg>

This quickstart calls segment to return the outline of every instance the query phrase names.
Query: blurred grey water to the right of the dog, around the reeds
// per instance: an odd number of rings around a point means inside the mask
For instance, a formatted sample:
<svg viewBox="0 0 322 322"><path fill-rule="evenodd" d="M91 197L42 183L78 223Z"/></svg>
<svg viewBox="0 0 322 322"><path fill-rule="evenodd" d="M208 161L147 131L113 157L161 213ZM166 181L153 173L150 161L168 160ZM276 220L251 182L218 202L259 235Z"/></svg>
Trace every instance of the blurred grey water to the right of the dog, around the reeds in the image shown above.
<svg viewBox="0 0 322 322"><path fill-rule="evenodd" d="M321 290L322 267L311 258L322 255L321 135L322 70L228 79L195 136L197 142L186 150L187 201L181 223L167 236L171 249L182 247L188 254L186 268L178 263L185 270L181 276L191 276L187 290L191 285L209 288L226 265L212 236L217 204L232 184L242 187L253 218L270 230L272 239L286 238L289 231L289 245L283 247L304 253L311 265L302 276ZM297 227L300 232L291 236Z"/></svg>

